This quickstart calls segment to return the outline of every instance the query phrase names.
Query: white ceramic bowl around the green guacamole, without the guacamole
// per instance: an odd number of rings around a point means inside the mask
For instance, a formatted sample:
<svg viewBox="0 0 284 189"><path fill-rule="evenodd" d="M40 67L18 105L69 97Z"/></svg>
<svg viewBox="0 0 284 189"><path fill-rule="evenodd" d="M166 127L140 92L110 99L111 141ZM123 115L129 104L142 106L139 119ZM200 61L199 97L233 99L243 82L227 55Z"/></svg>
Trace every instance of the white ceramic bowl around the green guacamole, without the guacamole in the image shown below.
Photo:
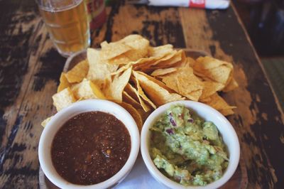
<svg viewBox="0 0 284 189"><path fill-rule="evenodd" d="M160 117L167 109L170 108L173 104L183 104L185 107L192 109L197 113L198 116L202 117L206 121L212 121L218 128L219 132L222 134L224 143L228 147L229 150L229 166L226 168L224 175L219 180L214 181L213 183L209 183L205 186L183 186L179 183L176 183L173 180L167 178L163 173L160 173L158 168L155 167L151 156L149 154L149 142L151 131L149 128L155 123L155 121ZM239 139L236 136L236 132L234 131L233 126L229 123L229 121L217 110L212 107L207 106L206 104L202 104L200 102L193 102L188 100L182 100L178 102L170 102L165 104L150 114L148 119L146 119L143 129L141 131L141 153L143 157L143 161L148 168L148 171L153 175L153 178L160 183L170 187L170 188L219 188L224 185L229 178L234 174L236 168L239 164L239 156L240 156L240 147L239 147Z"/></svg>

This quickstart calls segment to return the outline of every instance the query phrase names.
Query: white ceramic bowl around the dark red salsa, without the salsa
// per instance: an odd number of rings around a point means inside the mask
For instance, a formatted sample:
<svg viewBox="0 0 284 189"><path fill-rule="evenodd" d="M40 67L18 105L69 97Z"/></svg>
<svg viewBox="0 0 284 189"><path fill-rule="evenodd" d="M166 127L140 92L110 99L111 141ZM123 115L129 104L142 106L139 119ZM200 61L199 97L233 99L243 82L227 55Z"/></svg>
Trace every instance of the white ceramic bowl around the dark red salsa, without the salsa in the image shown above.
<svg viewBox="0 0 284 189"><path fill-rule="evenodd" d="M121 120L126 129L129 131L131 137L131 151L129 158L121 170L114 176L105 180L102 183L97 183L95 185L75 185L67 182L63 179L55 170L52 160L51 160L51 144L55 134L58 129L71 117L82 112L90 111L101 111L113 114L117 119ZM84 101L76 102L70 107L62 109L60 112L55 114L55 116L48 122L40 136L40 142L38 146L38 158L40 161L40 166L43 172L48 177L48 179L60 188L110 188L121 182L126 175L131 171L133 164L136 161L139 146L140 146L139 131L136 126L136 122L131 117L129 112L127 112L123 107L102 99L87 99Z"/></svg>

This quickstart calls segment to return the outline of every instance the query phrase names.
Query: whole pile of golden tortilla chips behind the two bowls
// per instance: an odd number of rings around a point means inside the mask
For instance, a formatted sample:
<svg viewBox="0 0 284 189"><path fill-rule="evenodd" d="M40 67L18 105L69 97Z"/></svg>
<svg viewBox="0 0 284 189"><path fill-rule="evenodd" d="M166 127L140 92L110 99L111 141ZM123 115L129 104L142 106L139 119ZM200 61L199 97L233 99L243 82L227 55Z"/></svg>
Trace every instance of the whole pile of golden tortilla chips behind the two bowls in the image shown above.
<svg viewBox="0 0 284 189"><path fill-rule="evenodd" d="M58 111L82 99L109 99L128 110L139 129L154 109L181 99L234 114L234 107L217 93L238 87L231 63L211 57L194 60L173 45L152 47L138 35L104 41L101 46L101 50L89 48L87 60L62 72L58 93L53 95Z"/></svg>

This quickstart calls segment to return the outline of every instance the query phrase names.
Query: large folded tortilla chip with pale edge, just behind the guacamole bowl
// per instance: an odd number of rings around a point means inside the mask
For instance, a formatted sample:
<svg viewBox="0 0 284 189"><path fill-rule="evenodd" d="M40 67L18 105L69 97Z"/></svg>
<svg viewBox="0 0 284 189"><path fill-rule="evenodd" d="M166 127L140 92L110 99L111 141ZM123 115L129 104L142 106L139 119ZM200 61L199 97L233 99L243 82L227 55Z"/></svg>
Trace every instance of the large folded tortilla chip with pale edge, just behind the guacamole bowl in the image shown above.
<svg viewBox="0 0 284 189"><path fill-rule="evenodd" d="M150 97L151 101L154 102L154 104L157 106L163 105L168 102L185 99L177 93L170 93L165 89L165 87L162 87L163 85L161 85L158 80L157 82L153 82L153 80L155 80L154 78L152 78L152 80L149 80L148 77L143 75L142 72L133 71L133 75L137 78L137 80L141 84L141 87L146 92L148 97Z"/></svg>

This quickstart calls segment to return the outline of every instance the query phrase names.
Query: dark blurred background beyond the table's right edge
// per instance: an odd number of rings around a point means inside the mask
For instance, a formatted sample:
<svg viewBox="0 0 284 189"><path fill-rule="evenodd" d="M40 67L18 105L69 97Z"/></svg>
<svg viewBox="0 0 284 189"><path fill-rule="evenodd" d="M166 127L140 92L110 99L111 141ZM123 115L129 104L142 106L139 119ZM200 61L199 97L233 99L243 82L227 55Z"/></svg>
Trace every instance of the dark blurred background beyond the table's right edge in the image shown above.
<svg viewBox="0 0 284 189"><path fill-rule="evenodd" d="M284 111L284 0L234 0Z"/></svg>

